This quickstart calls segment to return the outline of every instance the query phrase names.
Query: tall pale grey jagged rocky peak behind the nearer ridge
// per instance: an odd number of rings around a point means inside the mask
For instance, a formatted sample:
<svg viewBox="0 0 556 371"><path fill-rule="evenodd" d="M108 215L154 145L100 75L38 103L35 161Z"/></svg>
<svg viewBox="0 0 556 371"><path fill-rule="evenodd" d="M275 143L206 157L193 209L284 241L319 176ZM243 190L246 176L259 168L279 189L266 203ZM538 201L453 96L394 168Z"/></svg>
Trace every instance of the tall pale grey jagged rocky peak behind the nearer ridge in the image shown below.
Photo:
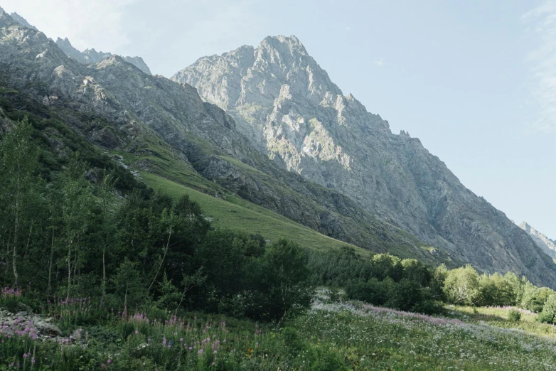
<svg viewBox="0 0 556 371"><path fill-rule="evenodd" d="M225 109L282 168L486 272L554 285L555 264L506 215L462 185L407 132L344 96L297 38L201 58L172 80Z"/></svg>

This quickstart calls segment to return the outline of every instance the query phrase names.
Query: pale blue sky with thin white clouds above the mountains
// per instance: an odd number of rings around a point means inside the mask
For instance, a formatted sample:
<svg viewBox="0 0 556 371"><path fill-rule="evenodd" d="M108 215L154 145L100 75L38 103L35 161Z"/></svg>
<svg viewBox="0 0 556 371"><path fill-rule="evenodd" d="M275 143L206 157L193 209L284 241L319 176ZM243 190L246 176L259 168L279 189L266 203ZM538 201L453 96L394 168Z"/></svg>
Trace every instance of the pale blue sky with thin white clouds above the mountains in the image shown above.
<svg viewBox="0 0 556 371"><path fill-rule="evenodd" d="M295 35L345 95L556 239L556 0L0 0L50 38L170 77Z"/></svg>

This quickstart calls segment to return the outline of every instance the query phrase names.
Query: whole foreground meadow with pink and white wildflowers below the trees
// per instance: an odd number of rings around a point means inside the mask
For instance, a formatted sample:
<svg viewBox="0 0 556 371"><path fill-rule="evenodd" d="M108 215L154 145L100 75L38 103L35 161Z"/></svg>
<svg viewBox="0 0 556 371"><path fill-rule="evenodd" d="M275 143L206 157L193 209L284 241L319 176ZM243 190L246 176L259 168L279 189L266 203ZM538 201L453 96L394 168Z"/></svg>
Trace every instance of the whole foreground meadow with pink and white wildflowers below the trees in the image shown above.
<svg viewBox="0 0 556 371"><path fill-rule="evenodd" d="M331 301L321 289L310 311L278 329L202 313L100 316L89 305L46 310L65 334L50 340L33 336L32 320L4 323L0 370L556 370L555 326L526 311L510 322L510 308L424 316Z"/></svg>

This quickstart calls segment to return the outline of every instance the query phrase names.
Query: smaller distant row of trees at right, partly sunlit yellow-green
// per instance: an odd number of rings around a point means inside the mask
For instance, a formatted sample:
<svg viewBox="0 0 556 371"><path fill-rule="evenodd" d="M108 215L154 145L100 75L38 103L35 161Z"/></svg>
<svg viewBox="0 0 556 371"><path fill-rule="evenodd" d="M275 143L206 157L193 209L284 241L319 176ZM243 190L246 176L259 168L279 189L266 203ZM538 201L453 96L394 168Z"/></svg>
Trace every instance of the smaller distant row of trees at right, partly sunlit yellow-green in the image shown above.
<svg viewBox="0 0 556 371"><path fill-rule="evenodd" d="M537 287L525 277L479 274L467 265L430 269L415 259L389 254L360 257L352 249L311 254L315 285L345 288L349 299L404 311L435 313L442 303L464 306L518 306L540 313L540 321L556 322L556 291Z"/></svg>

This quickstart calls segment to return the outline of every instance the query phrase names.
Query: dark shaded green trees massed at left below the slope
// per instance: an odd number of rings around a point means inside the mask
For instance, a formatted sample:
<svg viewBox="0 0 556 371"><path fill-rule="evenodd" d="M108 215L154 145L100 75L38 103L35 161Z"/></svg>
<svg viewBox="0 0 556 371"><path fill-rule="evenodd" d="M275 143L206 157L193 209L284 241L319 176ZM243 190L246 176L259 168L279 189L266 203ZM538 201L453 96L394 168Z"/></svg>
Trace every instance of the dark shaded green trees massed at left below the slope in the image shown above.
<svg viewBox="0 0 556 371"><path fill-rule="evenodd" d="M122 198L117 172L93 185L77 155L46 181L34 132L23 119L0 142L3 287L91 296L124 314L202 308L279 321L309 306L307 257L293 242L214 230L186 195L142 186Z"/></svg>

